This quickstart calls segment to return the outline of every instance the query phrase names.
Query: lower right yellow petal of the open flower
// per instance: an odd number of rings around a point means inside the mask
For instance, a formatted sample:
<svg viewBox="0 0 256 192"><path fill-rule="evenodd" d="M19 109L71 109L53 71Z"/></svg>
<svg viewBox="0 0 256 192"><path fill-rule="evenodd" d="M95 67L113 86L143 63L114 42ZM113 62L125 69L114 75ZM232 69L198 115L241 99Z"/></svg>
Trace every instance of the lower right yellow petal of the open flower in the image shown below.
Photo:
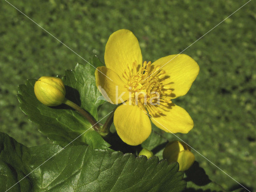
<svg viewBox="0 0 256 192"><path fill-rule="evenodd" d="M156 108L162 111L161 115L152 116L152 122L160 129L170 133L188 133L194 126L194 122L188 112L183 108L171 104L168 108Z"/></svg>

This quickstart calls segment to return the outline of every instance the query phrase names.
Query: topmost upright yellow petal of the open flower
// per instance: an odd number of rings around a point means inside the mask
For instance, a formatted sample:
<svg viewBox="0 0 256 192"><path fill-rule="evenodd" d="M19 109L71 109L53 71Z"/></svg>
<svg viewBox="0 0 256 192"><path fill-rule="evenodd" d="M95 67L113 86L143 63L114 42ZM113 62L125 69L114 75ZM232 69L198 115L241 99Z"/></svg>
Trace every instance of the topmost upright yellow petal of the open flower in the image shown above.
<svg viewBox="0 0 256 192"><path fill-rule="evenodd" d="M123 79L123 72L137 62L142 65L142 54L138 39L126 29L118 30L110 35L105 48L104 60L107 68L116 72Z"/></svg>

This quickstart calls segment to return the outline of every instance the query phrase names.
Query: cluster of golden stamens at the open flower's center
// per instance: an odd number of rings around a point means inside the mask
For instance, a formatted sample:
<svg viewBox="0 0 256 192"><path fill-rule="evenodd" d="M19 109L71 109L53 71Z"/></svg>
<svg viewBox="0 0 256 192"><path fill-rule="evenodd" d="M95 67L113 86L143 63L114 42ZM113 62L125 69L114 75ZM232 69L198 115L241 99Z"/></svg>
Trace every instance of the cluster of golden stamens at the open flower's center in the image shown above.
<svg viewBox="0 0 256 192"><path fill-rule="evenodd" d="M151 62L144 62L142 66L133 62L124 70L126 88L129 92L129 104L138 105L144 112L146 109L150 115L162 114L162 107L172 103L170 94L172 90L165 83L168 79L160 66L152 66Z"/></svg>

